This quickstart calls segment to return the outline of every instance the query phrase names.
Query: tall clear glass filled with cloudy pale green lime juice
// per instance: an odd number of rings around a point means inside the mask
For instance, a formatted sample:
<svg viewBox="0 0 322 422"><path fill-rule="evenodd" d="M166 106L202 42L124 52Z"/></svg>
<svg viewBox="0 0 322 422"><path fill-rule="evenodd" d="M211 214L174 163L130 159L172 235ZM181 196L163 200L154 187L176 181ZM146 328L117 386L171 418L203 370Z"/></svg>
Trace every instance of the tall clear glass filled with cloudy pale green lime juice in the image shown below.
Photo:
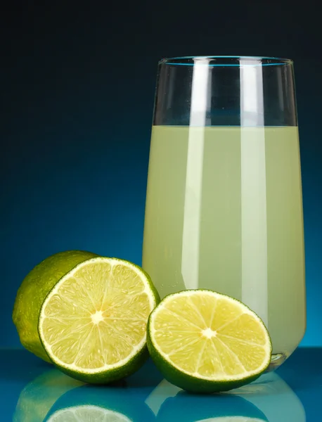
<svg viewBox="0 0 322 422"><path fill-rule="evenodd" d="M306 302L292 60L160 61L143 268L161 298L206 288L257 312L273 342L271 369L299 345Z"/></svg>

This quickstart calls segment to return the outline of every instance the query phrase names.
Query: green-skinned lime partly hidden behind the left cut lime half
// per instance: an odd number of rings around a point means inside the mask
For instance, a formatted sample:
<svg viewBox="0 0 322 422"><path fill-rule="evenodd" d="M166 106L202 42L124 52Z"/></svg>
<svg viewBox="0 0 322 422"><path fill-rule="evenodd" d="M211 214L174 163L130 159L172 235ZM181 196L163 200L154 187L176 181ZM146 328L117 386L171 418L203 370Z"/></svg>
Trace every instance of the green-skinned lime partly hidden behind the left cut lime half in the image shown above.
<svg viewBox="0 0 322 422"><path fill-rule="evenodd" d="M30 352L50 362L38 335L38 319L41 305L49 291L68 271L97 255L82 250L68 250L51 255L38 264L22 281L13 307L13 322L20 342Z"/></svg>

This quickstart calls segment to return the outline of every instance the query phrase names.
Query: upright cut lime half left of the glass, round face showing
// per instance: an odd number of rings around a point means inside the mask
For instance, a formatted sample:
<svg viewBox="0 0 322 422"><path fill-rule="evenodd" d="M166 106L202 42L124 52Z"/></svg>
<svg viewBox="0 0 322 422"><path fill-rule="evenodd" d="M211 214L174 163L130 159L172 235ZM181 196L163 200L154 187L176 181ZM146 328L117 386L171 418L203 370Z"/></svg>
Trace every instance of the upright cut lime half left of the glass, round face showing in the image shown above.
<svg viewBox="0 0 322 422"><path fill-rule="evenodd" d="M87 383L134 373L148 357L146 324L158 302L148 274L131 262L95 257L49 292L39 337L62 371Z"/></svg>

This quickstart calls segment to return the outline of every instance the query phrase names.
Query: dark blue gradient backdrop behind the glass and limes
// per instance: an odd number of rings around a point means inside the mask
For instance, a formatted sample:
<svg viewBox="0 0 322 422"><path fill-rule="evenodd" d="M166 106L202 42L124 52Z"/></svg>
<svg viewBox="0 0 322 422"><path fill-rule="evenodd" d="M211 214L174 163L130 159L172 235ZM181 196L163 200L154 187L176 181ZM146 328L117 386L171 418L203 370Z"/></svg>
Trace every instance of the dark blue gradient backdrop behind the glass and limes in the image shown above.
<svg viewBox="0 0 322 422"><path fill-rule="evenodd" d="M0 346L19 345L15 293L48 255L82 249L141 263L157 60L207 54L295 60L308 305L302 345L322 345L322 37L313 2L71 3L11 2L1 13Z"/></svg>

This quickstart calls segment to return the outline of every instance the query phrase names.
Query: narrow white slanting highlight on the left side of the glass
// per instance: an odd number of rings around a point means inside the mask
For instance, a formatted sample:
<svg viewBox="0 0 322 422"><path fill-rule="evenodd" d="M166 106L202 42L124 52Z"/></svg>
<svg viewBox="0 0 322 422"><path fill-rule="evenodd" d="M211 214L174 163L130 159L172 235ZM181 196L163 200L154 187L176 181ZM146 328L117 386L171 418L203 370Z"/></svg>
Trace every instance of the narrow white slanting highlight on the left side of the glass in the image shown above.
<svg viewBox="0 0 322 422"><path fill-rule="evenodd" d="M208 96L209 60L195 58L193 66L181 255L181 274L186 288L198 288L202 167L205 124L211 100Z"/></svg>

